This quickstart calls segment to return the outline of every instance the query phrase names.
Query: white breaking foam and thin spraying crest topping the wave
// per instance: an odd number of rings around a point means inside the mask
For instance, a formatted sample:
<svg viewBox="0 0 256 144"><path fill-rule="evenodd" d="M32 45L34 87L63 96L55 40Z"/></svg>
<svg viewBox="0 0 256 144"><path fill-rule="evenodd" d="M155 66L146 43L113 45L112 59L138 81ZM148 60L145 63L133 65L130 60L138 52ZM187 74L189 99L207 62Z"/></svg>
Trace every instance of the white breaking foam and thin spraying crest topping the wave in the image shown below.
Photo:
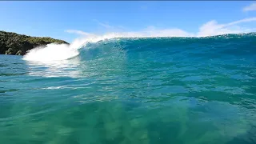
<svg viewBox="0 0 256 144"><path fill-rule="evenodd" d="M179 37L179 36L151 36L145 34L134 34L134 33L110 33L105 34L102 36L90 34L86 36L86 38L78 38L74 40L70 45L66 44L48 44L46 46L39 46L30 50L23 60L26 61L33 61L33 62L58 62L70 58L74 58L78 56L79 49L82 47L86 47L88 43L96 43L110 39L119 38L178 38L178 39L205 39L205 38L241 38L246 36L255 36L256 33L249 33L249 34L223 34L223 35L214 35L214 36L207 36L207 37Z"/></svg>

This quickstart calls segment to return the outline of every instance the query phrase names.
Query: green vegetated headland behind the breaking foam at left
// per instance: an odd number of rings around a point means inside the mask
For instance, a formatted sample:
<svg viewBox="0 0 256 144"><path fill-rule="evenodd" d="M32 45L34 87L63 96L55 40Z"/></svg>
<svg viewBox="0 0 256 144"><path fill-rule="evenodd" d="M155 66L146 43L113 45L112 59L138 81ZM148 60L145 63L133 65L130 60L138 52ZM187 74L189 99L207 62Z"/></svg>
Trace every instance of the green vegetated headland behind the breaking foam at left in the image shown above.
<svg viewBox="0 0 256 144"><path fill-rule="evenodd" d="M0 54L24 55L27 50L37 46L45 46L49 43L69 44L50 37L30 37L23 34L0 31Z"/></svg>

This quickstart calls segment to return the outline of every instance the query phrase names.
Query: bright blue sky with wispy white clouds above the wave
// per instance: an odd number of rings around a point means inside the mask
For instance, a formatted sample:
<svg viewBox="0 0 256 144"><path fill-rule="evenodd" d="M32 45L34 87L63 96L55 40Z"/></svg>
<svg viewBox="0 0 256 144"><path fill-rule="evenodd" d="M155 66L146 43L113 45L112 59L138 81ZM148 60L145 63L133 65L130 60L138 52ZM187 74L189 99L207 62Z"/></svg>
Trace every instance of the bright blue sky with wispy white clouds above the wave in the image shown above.
<svg viewBox="0 0 256 144"><path fill-rule="evenodd" d="M0 30L72 42L75 38L208 36L256 32L256 2L0 2Z"/></svg>

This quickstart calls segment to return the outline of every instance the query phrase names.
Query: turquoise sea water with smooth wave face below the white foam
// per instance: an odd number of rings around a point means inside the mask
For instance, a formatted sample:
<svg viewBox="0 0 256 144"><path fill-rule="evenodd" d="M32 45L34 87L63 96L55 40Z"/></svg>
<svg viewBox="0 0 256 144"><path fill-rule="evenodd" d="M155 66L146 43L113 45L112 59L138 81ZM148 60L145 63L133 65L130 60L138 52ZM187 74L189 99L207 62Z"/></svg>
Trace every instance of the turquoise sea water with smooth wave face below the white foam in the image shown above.
<svg viewBox="0 0 256 144"><path fill-rule="evenodd" d="M115 38L0 66L1 144L256 142L256 34Z"/></svg>

